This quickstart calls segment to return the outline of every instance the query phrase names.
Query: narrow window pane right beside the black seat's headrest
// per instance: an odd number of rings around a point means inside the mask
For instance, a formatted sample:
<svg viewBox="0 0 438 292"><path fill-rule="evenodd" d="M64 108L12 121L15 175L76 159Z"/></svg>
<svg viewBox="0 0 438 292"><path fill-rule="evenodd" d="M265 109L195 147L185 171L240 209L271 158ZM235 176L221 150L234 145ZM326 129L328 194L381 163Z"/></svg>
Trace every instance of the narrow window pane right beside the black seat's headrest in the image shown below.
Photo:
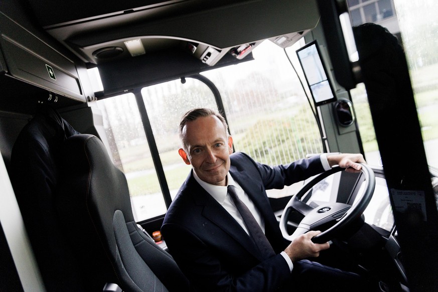
<svg viewBox="0 0 438 292"><path fill-rule="evenodd" d="M135 96L97 101L114 164L125 174L135 221L166 213L166 204L143 129Z"/></svg>

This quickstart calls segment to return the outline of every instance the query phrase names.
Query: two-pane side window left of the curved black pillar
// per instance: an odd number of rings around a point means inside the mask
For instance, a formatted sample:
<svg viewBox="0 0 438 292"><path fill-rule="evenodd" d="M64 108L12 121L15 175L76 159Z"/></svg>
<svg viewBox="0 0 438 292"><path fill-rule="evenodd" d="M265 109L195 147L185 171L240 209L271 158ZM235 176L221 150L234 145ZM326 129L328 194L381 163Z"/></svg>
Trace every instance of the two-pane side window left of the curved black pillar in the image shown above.
<svg viewBox="0 0 438 292"><path fill-rule="evenodd" d="M172 199L190 166L178 155L181 116L193 107L217 108L213 92L199 80L174 80L141 90ZM114 164L126 176L135 221L166 213L166 204L134 94L97 101Z"/></svg>

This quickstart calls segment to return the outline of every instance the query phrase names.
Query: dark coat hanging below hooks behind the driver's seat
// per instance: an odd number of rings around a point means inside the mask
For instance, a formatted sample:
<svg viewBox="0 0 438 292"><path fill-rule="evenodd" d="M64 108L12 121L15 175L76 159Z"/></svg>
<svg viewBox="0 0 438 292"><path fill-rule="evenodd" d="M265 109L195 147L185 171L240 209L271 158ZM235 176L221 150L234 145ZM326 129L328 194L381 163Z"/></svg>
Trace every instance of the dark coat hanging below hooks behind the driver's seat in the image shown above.
<svg viewBox="0 0 438 292"><path fill-rule="evenodd" d="M82 290L54 206L61 148L75 134L56 110L40 104L11 154L11 182L48 291Z"/></svg>

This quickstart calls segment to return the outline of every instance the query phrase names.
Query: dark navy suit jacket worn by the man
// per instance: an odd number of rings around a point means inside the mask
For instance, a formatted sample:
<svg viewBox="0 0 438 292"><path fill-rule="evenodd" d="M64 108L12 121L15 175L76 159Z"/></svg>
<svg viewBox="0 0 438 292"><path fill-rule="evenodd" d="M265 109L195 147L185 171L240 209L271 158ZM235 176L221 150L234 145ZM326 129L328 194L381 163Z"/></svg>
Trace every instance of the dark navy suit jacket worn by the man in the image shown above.
<svg viewBox="0 0 438 292"><path fill-rule="evenodd" d="M290 281L289 267L279 254L288 242L281 235L266 190L281 189L324 169L319 157L277 167L256 163L243 153L231 155L230 160L230 174L261 213L266 237L276 255L260 258L251 238L192 173L166 214L164 239L199 291L275 290Z"/></svg>

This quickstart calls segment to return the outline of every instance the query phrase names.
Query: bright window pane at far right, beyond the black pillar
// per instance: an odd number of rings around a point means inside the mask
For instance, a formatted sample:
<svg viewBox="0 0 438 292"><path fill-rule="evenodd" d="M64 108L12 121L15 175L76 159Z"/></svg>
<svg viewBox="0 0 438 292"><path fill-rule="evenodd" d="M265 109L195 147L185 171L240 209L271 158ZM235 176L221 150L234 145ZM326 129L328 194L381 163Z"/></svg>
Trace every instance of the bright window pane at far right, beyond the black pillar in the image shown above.
<svg viewBox="0 0 438 292"><path fill-rule="evenodd" d="M437 2L394 3L429 166L438 169Z"/></svg>

